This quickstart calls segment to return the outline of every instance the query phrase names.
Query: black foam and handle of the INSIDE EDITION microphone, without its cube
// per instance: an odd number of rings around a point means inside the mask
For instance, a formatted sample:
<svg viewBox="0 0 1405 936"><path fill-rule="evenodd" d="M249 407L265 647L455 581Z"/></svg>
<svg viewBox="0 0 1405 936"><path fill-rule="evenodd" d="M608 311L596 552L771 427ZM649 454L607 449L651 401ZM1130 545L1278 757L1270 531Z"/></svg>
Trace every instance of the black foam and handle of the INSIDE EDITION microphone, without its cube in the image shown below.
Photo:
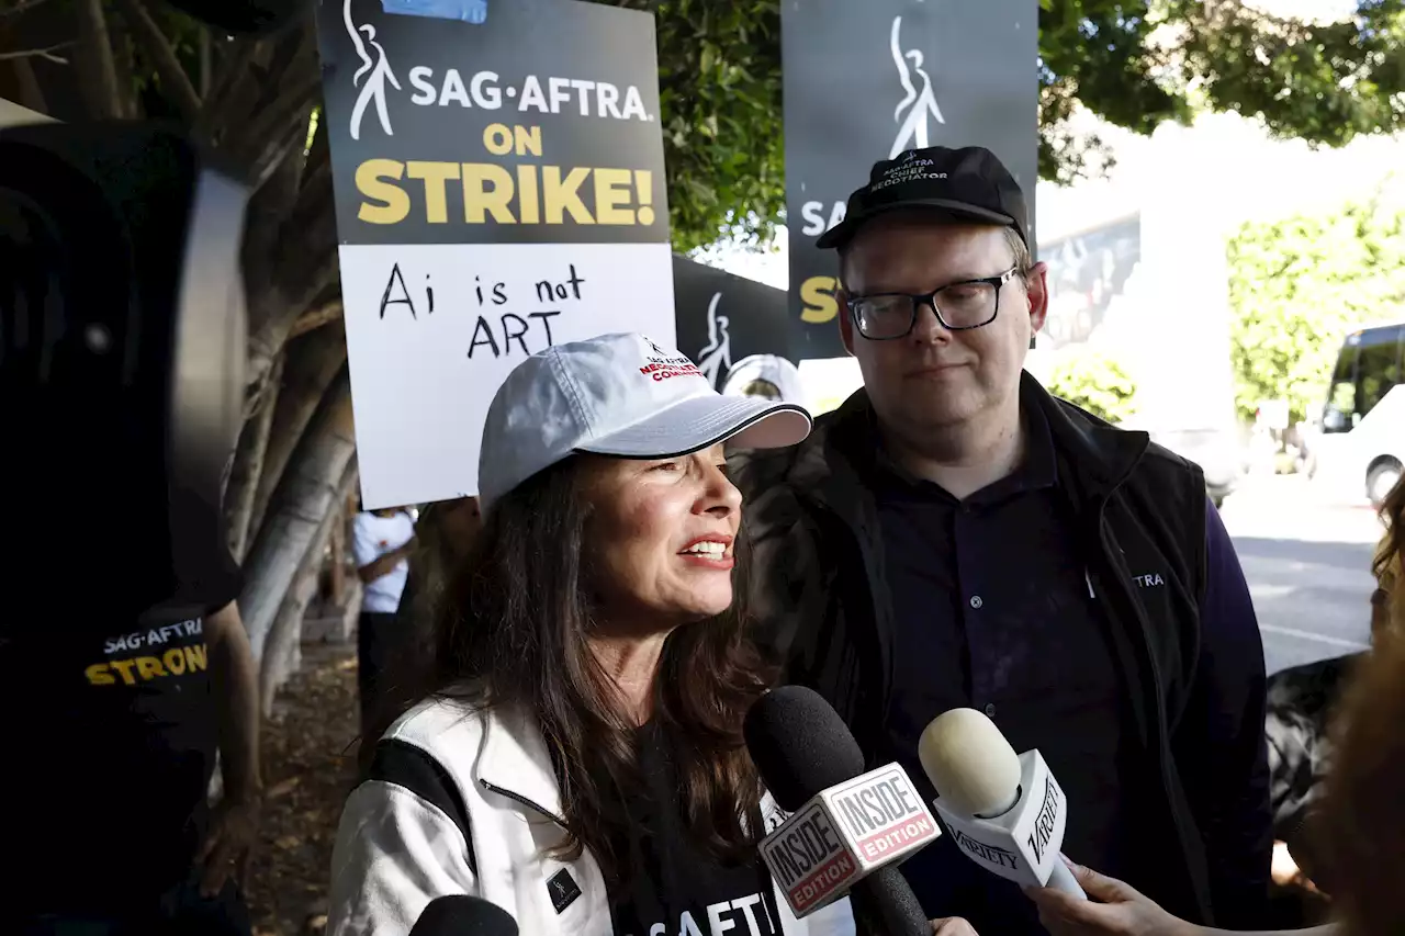
<svg viewBox="0 0 1405 936"><path fill-rule="evenodd" d="M762 783L787 812L864 773L863 752L839 713L802 686L783 686L757 698L742 734ZM850 884L849 899L854 916L885 936L932 936L927 915L896 864Z"/></svg>

